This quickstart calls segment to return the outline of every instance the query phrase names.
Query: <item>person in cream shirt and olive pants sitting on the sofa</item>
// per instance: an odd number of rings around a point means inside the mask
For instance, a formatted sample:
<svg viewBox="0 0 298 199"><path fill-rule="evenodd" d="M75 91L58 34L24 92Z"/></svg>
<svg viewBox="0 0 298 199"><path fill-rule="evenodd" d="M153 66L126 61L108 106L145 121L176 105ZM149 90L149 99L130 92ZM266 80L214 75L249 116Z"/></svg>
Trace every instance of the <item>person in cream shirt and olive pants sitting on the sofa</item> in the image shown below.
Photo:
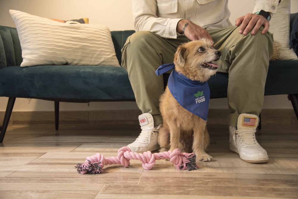
<svg viewBox="0 0 298 199"><path fill-rule="evenodd" d="M122 48L122 66L136 98L141 133L128 147L133 152L158 150L162 124L159 97L163 77L155 74L162 64L172 63L176 48L202 38L214 41L221 50L219 72L229 73L227 124L230 150L246 162L268 161L265 149L255 138L262 110L273 38L268 32L271 15L279 0L256 0L253 13L229 21L228 0L133 0L136 32ZM241 2L239 1L239 7Z"/></svg>

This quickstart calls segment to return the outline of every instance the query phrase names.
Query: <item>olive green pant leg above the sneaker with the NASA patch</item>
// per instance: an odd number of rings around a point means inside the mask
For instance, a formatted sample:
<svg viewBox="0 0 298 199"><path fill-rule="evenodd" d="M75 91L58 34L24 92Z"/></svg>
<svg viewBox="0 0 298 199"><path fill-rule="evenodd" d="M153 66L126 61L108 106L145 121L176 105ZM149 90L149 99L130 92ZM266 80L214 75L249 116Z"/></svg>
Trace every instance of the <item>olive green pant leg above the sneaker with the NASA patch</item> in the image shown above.
<svg viewBox="0 0 298 199"><path fill-rule="evenodd" d="M136 104L142 113L153 115L154 125L162 123L159 97L164 92L163 76L156 69L172 63L176 48L186 37L165 39L153 32L139 31L131 35L122 49L122 66L134 91Z"/></svg>

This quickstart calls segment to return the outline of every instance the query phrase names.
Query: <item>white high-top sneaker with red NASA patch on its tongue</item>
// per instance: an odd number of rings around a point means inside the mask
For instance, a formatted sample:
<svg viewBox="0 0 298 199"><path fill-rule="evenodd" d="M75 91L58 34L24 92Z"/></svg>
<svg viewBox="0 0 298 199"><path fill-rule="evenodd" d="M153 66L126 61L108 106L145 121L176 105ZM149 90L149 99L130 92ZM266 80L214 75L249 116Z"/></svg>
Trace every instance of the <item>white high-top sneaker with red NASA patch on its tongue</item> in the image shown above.
<svg viewBox="0 0 298 199"><path fill-rule="evenodd" d="M127 146L132 152L143 153L145 151L158 150L159 144L157 142L158 130L161 124L154 127L153 116L150 113L139 115L139 122L141 126L141 133L137 139Z"/></svg>

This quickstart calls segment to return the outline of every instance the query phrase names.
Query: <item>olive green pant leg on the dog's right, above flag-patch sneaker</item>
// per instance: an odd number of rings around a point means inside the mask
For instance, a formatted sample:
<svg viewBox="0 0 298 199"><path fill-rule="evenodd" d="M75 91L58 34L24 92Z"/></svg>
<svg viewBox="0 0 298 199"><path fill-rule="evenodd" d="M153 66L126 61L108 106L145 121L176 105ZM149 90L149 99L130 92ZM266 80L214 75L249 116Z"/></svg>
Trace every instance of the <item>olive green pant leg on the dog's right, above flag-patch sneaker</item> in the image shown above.
<svg viewBox="0 0 298 199"><path fill-rule="evenodd" d="M222 51L218 71L229 73L227 124L237 126L240 114L259 116L262 110L273 38L261 31L244 36L239 27L211 30L210 34L215 48Z"/></svg>

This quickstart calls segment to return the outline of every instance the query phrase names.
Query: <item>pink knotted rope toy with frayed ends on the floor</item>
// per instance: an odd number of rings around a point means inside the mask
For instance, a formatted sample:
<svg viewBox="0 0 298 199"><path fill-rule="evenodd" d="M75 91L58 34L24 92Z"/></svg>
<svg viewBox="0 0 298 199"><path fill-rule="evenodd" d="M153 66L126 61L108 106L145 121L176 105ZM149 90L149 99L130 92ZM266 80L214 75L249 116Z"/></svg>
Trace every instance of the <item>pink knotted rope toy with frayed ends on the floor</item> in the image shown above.
<svg viewBox="0 0 298 199"><path fill-rule="evenodd" d="M130 165L129 160L135 159L142 161L142 167L145 170L150 170L155 165L155 160L170 158L170 162L175 164L178 170L195 170L195 153L181 153L180 149L162 153L151 153L150 151L144 153L134 153L128 147L122 147L118 150L117 157L105 158L100 153L94 156L87 157L83 164L77 164L77 172L81 174L97 174L103 172L103 167L108 164L122 164L124 167Z"/></svg>

